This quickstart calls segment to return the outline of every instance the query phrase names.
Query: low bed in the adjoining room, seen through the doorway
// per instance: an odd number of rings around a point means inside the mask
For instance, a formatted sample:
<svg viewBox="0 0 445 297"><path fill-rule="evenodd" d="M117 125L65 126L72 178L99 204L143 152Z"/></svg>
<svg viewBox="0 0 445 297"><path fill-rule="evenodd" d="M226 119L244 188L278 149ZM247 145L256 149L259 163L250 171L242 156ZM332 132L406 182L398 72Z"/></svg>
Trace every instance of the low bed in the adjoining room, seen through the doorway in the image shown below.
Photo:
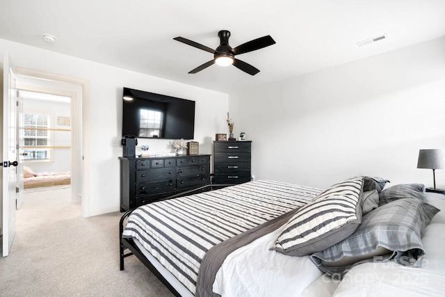
<svg viewBox="0 0 445 297"><path fill-rule="evenodd" d="M71 172L33 172L24 166L24 188L71 184Z"/></svg>

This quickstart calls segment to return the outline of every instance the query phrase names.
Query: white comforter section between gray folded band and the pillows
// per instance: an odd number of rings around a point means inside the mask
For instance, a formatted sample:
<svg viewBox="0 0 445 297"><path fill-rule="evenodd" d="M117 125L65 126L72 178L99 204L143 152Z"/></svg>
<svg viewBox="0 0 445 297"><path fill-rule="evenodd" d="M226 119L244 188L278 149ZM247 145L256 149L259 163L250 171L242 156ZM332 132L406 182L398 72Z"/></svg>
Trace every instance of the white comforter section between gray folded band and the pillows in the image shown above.
<svg viewBox="0 0 445 297"><path fill-rule="evenodd" d="M213 292L221 296L300 296L323 273L309 256L289 257L269 250L283 227L232 252L216 274Z"/></svg>

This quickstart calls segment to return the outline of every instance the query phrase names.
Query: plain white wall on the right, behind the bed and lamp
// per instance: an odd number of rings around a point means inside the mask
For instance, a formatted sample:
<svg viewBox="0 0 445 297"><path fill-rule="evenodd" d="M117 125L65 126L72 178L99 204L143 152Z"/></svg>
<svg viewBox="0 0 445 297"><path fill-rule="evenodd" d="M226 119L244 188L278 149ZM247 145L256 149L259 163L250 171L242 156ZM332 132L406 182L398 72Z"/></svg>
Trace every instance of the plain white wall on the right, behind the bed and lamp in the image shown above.
<svg viewBox="0 0 445 297"><path fill-rule="evenodd" d="M374 46L374 45L370 45ZM252 173L325 188L355 175L432 186L419 149L445 148L445 38L230 95ZM436 171L445 187L445 171Z"/></svg>

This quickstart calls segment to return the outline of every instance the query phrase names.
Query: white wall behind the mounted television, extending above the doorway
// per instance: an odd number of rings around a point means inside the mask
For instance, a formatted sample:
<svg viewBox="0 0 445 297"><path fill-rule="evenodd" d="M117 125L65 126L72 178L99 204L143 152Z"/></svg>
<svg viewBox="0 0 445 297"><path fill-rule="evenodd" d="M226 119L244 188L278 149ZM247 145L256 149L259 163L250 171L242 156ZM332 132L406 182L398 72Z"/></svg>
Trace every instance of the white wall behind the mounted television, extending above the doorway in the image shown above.
<svg viewBox="0 0 445 297"><path fill-rule="evenodd" d="M10 54L13 65L90 81L90 139L86 140L90 161L83 164L90 186L84 188L89 191L89 200L83 201L84 216L120 209L122 147L111 144L122 136L122 87L195 100L195 141L200 142L203 154L211 153L214 134L227 130L227 94L0 40L0 55L4 52ZM149 145L151 153L173 152L169 141L141 140L139 145L143 144Z"/></svg>

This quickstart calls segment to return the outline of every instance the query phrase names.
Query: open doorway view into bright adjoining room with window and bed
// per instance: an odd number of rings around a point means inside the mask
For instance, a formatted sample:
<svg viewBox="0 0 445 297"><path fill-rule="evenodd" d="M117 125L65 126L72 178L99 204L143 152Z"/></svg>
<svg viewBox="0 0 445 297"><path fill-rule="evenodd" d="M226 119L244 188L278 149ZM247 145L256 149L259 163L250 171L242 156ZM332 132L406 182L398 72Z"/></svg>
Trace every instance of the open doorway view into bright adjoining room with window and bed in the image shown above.
<svg viewBox="0 0 445 297"><path fill-rule="evenodd" d="M24 193L71 185L71 97L47 92L17 93L22 104L19 145L23 152Z"/></svg>

